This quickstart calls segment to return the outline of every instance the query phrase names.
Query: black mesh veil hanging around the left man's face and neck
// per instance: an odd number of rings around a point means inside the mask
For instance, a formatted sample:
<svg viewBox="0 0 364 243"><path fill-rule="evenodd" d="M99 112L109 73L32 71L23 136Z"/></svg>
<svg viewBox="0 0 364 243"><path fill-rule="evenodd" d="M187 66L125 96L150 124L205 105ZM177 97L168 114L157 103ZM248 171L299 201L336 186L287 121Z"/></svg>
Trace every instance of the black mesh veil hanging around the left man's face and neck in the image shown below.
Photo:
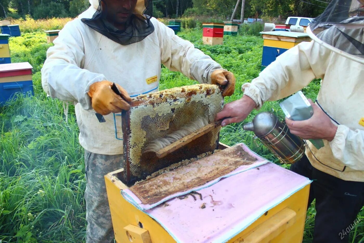
<svg viewBox="0 0 364 243"><path fill-rule="evenodd" d="M151 0L138 0L134 14L126 23L125 30L118 30L106 19L107 4L104 1L104 8L101 5L104 0L90 0L91 6L96 9L91 19L82 19L82 22L107 36L121 45L130 45L139 42L153 33L154 26L150 19L153 13Z"/></svg>

